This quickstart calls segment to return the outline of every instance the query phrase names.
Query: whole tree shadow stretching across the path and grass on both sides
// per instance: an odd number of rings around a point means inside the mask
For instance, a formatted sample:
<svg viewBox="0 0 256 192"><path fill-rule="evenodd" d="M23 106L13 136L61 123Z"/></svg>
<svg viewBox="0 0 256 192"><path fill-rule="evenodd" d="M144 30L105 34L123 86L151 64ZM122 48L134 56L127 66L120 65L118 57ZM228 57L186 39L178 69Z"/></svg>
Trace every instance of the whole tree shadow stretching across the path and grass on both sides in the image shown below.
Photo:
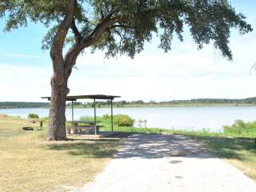
<svg viewBox="0 0 256 192"><path fill-rule="evenodd" d="M145 136L146 135L146 136ZM254 138L226 138L219 136L144 134L143 137L131 136L121 144L122 150L116 153L118 138L73 139L69 142L53 143L50 150L65 150L71 155L82 155L86 158L213 158L210 153L194 142L202 141L210 152L219 158L244 160L246 154L256 158Z"/></svg>

